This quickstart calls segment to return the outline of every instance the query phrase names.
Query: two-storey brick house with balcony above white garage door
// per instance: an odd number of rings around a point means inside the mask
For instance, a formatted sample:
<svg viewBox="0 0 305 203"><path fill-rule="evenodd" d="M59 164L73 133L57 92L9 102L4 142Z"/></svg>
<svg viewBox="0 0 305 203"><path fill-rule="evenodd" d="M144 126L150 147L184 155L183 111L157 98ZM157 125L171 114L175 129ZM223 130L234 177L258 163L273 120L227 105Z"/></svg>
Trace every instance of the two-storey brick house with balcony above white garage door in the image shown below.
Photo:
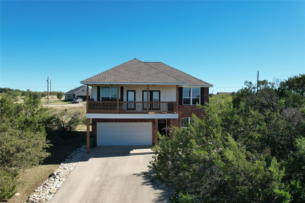
<svg viewBox="0 0 305 203"><path fill-rule="evenodd" d="M138 59L81 84L87 90L92 87L86 107L87 146L90 119L95 146L157 145L157 133L168 134L166 126L187 128L192 113L203 117L196 103L209 102L209 87L213 87L162 62Z"/></svg>

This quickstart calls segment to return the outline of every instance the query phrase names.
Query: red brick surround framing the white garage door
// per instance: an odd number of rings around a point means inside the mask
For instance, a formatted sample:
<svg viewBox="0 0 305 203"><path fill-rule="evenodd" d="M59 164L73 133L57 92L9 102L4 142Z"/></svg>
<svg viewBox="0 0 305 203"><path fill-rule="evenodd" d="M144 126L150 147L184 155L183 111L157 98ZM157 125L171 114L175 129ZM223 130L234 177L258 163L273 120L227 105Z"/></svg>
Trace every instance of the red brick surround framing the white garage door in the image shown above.
<svg viewBox="0 0 305 203"><path fill-rule="evenodd" d="M94 136L94 146L96 143L96 123L152 123L152 145L155 145L155 119L92 119L92 135Z"/></svg>

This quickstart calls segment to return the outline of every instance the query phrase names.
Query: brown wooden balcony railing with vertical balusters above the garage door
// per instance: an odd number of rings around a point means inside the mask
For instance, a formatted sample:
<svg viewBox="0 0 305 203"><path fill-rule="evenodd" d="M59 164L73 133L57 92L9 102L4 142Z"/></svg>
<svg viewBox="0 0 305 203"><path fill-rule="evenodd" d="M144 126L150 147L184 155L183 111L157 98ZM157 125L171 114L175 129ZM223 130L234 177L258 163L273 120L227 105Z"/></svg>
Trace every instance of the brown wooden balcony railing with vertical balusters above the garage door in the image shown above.
<svg viewBox="0 0 305 203"><path fill-rule="evenodd" d="M147 102L88 101L88 113L147 113ZM119 110L117 111L117 106ZM149 113L174 113L176 102L149 102Z"/></svg>

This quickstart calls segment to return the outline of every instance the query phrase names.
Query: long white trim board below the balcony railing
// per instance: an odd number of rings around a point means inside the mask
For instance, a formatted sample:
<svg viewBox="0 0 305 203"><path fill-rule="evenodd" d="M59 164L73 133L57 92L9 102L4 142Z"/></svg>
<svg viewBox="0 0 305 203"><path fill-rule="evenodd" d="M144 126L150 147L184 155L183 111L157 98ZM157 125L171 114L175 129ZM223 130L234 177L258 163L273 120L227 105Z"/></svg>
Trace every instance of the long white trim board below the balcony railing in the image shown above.
<svg viewBox="0 0 305 203"><path fill-rule="evenodd" d="M86 118L106 119L178 119L177 113L86 113Z"/></svg>

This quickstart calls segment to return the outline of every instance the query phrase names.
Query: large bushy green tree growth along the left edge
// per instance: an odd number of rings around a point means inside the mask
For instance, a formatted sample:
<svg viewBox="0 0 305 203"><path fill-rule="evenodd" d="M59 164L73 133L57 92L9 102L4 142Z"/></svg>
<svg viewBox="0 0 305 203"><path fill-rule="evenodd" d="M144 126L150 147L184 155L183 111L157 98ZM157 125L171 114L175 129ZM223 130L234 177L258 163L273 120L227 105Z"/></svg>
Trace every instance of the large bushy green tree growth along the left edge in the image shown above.
<svg viewBox="0 0 305 203"><path fill-rule="evenodd" d="M48 109L40 105L40 97L27 94L23 104L11 99L0 100L0 199L14 193L21 169L38 165L48 156L45 148L45 126L52 121Z"/></svg>

